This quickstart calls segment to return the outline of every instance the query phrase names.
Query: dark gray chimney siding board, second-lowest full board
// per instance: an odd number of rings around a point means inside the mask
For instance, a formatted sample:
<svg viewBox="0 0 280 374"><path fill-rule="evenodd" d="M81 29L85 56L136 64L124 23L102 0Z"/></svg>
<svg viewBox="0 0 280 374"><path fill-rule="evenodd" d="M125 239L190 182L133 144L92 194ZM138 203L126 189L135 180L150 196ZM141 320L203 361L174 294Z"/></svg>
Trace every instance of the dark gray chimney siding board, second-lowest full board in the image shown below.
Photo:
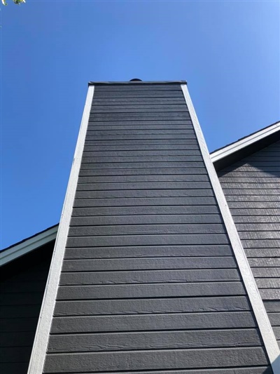
<svg viewBox="0 0 280 374"><path fill-rule="evenodd" d="M106 352L143 349L194 349L204 347L257 347L256 330L198 330L150 333L51 335L48 350L57 352Z"/></svg>

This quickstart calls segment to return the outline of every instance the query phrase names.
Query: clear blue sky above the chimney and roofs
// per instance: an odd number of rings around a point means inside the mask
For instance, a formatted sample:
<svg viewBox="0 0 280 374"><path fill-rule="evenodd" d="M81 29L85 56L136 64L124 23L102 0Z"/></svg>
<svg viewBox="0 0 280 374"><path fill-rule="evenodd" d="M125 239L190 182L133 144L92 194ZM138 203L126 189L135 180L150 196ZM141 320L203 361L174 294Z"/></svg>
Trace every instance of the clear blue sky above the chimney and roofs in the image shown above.
<svg viewBox="0 0 280 374"><path fill-rule="evenodd" d="M280 119L279 1L1 6L1 248L59 222L88 81L188 81L209 151Z"/></svg>

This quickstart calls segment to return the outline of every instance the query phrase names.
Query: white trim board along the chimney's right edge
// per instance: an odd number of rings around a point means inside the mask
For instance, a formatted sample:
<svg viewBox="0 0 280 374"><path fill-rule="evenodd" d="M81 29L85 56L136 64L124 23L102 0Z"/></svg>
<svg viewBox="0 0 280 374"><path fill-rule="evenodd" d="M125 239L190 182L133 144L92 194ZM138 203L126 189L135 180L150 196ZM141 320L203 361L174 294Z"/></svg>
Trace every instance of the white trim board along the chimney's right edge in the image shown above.
<svg viewBox="0 0 280 374"><path fill-rule="evenodd" d="M279 374L280 373L280 359L279 359L280 349L276 342L276 338L274 336L272 326L269 322L267 312L265 310L265 306L263 305L262 299L260 297L258 287L255 284L255 279L253 277L251 267L248 264L248 260L244 252L244 248L241 244L239 234L235 227L235 223L233 222L232 215L230 213L230 208L228 208L228 203L225 200L225 195L223 194L223 189L218 180L218 175L216 174L214 165L211 161L211 158L210 158L210 155L207 149L207 145L204 140L202 130L200 128L200 123L197 119L197 115L195 114L193 102L190 99L190 95L188 93L188 88L186 84L182 84L181 88L182 88L183 95L186 100L188 110L190 112L190 118L193 121L193 126L195 128L195 133L197 135L197 140L200 145L202 157L204 159L204 163L209 174L211 185L214 189L214 194L216 196L218 206L221 210L221 215L223 216L223 220L224 220L227 232L228 232L230 243L232 244L232 249L235 253L237 265L239 267L241 277L244 281L244 286L248 293L248 298L250 299L253 312L255 314L255 319L257 320L258 327L260 328L262 340L265 344L265 349L267 350L267 356L269 357L269 361L272 365L274 374Z"/></svg>

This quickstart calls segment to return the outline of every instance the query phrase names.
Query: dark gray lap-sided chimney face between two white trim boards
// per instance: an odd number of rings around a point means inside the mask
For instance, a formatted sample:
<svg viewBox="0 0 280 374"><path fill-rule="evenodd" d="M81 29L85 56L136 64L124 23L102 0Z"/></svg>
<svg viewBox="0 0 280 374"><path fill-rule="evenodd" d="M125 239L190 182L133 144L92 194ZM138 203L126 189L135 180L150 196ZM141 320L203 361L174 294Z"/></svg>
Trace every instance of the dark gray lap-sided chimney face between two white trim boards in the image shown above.
<svg viewBox="0 0 280 374"><path fill-rule="evenodd" d="M96 86L46 373L272 373L181 86Z"/></svg>

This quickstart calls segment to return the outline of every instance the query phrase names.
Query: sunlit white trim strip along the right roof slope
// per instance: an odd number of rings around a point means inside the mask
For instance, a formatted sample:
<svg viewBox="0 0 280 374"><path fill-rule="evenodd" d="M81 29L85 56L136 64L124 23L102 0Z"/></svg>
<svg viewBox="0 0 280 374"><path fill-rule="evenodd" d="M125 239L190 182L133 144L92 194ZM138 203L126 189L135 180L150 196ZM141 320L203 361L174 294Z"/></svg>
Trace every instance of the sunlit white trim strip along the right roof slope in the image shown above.
<svg viewBox="0 0 280 374"><path fill-rule="evenodd" d="M280 121L275 123L272 126L269 126L268 128L264 128L258 133L254 133L252 135L247 136L244 139L237 140L237 142L228 145L227 147L224 147L222 149L218 149L218 151L210 154L212 162L219 161L230 154L233 154L240 149L243 149L245 147L248 147L248 145L251 145L255 142L258 142L259 140L262 140L263 138L267 138L267 136L272 135L280 130Z"/></svg>

